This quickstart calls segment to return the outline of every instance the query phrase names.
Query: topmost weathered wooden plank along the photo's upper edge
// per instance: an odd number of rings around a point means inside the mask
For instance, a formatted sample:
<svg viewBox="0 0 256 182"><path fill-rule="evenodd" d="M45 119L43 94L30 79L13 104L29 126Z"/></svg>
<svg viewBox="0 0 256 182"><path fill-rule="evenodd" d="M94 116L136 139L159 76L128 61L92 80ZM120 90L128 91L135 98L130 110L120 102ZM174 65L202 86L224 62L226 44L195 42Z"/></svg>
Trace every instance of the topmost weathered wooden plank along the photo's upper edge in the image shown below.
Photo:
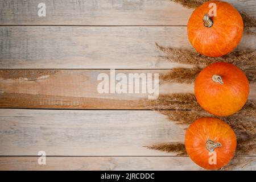
<svg viewBox="0 0 256 182"><path fill-rule="evenodd" d="M168 25L185 26L193 9L169 0L44 0L46 17L38 16L40 0L1 0L0 24L14 25ZM256 17L255 1L227 1Z"/></svg>

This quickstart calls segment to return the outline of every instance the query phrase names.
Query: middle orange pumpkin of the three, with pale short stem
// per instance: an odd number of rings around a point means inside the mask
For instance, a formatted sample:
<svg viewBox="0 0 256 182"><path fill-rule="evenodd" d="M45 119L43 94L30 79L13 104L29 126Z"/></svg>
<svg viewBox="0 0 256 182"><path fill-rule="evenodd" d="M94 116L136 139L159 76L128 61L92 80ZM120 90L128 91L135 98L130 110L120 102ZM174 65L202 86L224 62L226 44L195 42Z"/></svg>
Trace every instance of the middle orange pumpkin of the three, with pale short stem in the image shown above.
<svg viewBox="0 0 256 182"><path fill-rule="evenodd" d="M227 116L240 110L249 95L245 73L233 64L213 63L195 81L197 102L210 114Z"/></svg>

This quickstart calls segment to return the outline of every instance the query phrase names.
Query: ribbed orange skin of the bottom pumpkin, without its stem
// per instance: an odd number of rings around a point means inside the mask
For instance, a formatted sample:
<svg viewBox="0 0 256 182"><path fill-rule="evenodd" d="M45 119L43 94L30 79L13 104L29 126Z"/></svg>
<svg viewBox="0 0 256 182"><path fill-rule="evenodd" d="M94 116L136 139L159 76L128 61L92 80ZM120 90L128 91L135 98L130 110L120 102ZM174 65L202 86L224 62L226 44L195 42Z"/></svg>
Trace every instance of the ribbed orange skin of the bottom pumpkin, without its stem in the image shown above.
<svg viewBox="0 0 256 182"><path fill-rule="evenodd" d="M215 148L216 164L209 164L207 140L220 142L221 147ZM236 151L236 134L231 127L220 119L199 118L193 122L185 134L185 148L191 160L205 169L219 169L233 158Z"/></svg>

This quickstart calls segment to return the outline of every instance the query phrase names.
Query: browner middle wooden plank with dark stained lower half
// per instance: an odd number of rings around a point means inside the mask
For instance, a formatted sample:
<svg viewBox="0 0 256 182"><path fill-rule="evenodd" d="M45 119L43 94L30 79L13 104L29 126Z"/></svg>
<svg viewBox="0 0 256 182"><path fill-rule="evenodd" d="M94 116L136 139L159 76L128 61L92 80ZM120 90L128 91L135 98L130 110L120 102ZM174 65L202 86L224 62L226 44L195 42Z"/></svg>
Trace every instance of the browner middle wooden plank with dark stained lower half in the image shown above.
<svg viewBox="0 0 256 182"><path fill-rule="evenodd" d="M115 70L127 76L127 92L129 73L139 75L159 73L159 77L170 70ZM146 93L99 93L98 75L110 70L0 70L0 107L2 108L65 108L65 109L148 109L154 101L148 100ZM136 80L139 80L138 78ZM151 80L139 80L140 85L150 84ZM154 78L153 78L154 81ZM170 80L171 81L171 80ZM115 81L117 84L119 81ZM161 82L161 80L159 80ZM134 81L135 83L135 81ZM155 84L153 82L153 84ZM101 88L101 86L100 86ZM134 85L135 88L135 85ZM159 85L159 95L173 93L193 93L193 84L176 82ZM156 93L156 92L155 92ZM256 98L256 84L250 85L249 99ZM187 108L190 109L190 108Z"/></svg>

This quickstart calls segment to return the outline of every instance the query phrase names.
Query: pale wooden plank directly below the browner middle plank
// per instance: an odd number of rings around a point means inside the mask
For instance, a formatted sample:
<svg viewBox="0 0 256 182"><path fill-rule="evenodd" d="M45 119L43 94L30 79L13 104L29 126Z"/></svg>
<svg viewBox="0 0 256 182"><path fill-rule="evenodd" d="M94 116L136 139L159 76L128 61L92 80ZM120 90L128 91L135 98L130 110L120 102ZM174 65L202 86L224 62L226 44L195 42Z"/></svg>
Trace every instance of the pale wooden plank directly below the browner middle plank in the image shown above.
<svg viewBox="0 0 256 182"><path fill-rule="evenodd" d="M182 142L184 127L155 111L0 109L0 155L175 156L144 146Z"/></svg>

